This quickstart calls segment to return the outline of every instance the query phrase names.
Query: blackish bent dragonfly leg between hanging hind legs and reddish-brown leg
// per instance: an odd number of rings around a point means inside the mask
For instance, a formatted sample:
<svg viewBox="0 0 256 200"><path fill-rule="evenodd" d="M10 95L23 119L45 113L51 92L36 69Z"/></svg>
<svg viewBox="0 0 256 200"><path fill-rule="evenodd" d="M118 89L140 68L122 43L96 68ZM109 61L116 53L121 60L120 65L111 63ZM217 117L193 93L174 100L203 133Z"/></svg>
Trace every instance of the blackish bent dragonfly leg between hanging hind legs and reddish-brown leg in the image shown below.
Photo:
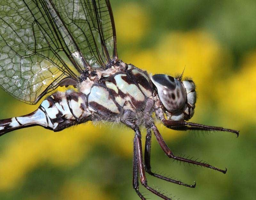
<svg viewBox="0 0 256 200"><path fill-rule="evenodd" d="M146 136L146 143L145 143L145 152L144 152L144 159L145 159L145 170L146 172L148 172L150 175L159 178L159 179L163 179L172 183L176 183L179 185L183 185L189 188L195 188L196 187L196 183L194 185L188 185L186 183L183 183L179 180L174 180L174 179L170 179L168 177L162 176L160 174L157 173L153 173L151 172L151 166L150 166L150 150L151 150L151 128L147 128L147 136Z"/></svg>

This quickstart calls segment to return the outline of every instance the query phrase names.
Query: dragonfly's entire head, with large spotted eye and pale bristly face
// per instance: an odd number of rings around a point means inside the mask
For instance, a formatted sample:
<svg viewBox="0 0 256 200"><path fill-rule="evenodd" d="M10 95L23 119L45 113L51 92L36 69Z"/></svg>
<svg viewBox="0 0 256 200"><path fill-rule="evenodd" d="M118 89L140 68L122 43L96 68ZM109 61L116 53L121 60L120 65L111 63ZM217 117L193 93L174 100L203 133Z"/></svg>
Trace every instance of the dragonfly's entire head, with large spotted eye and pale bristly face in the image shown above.
<svg viewBox="0 0 256 200"><path fill-rule="evenodd" d="M167 119L188 120L194 115L196 86L192 80L181 81L165 74L151 77L158 97L165 108Z"/></svg>

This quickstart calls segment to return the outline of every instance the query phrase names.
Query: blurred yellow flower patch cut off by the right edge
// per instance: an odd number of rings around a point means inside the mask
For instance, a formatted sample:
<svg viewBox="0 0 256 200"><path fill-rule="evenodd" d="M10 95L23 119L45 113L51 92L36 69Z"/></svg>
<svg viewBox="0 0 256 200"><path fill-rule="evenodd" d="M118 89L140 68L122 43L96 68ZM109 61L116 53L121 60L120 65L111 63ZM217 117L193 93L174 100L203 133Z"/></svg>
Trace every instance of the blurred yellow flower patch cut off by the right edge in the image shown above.
<svg viewBox="0 0 256 200"><path fill-rule="evenodd" d="M221 84L219 93L220 108L225 120L235 128L256 122L256 51L244 57L240 71L233 76L228 74Z"/></svg>

